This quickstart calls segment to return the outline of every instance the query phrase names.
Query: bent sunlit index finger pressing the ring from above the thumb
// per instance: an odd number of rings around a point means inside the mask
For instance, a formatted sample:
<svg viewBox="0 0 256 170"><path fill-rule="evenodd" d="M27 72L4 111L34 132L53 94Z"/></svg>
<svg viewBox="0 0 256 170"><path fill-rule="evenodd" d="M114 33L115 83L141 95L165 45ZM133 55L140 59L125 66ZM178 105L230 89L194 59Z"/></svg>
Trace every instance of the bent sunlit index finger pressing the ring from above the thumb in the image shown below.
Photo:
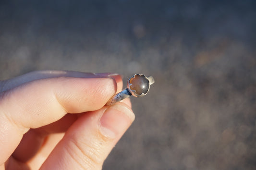
<svg viewBox="0 0 256 170"><path fill-rule="evenodd" d="M29 128L45 126L66 113L97 110L116 89L112 78L60 77L35 80L1 93L0 164L12 154Z"/></svg>

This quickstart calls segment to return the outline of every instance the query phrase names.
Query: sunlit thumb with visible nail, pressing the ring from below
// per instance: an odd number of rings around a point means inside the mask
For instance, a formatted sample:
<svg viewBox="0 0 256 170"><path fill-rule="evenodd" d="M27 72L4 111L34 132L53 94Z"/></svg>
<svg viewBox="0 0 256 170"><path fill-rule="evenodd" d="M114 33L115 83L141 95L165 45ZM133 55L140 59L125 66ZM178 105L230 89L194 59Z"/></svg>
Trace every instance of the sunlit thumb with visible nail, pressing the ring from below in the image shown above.
<svg viewBox="0 0 256 170"><path fill-rule="evenodd" d="M101 169L103 161L133 120L131 108L122 102L79 117L41 169Z"/></svg>

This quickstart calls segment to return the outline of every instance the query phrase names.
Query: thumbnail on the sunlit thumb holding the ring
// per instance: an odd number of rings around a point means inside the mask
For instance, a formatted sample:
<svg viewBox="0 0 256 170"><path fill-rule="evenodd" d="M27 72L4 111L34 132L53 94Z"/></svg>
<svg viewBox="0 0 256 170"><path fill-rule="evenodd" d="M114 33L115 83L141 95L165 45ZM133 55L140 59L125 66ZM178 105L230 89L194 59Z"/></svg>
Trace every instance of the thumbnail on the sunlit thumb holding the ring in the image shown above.
<svg viewBox="0 0 256 170"><path fill-rule="evenodd" d="M108 138L117 138L122 136L134 118L134 113L125 104L115 104L110 106L100 118L100 131Z"/></svg>

